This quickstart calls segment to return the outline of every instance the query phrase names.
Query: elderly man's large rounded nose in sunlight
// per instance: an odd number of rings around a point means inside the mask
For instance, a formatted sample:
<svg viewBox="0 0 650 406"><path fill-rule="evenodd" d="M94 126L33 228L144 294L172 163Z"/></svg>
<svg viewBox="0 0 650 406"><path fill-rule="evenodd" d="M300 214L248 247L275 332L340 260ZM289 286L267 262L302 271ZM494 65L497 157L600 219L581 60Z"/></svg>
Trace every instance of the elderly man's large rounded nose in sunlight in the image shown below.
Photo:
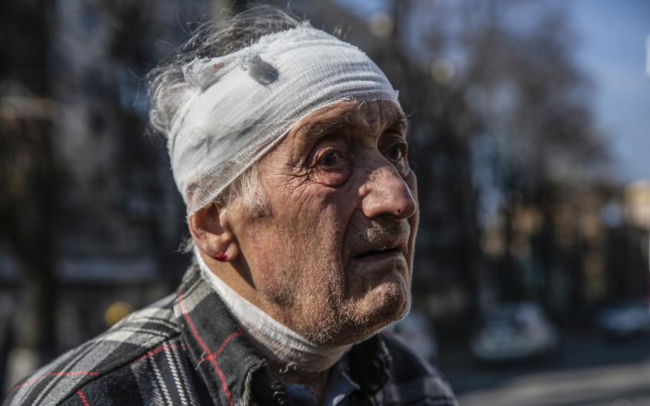
<svg viewBox="0 0 650 406"><path fill-rule="evenodd" d="M392 214L398 219L408 219L417 209L411 189L393 164L383 161L364 184L361 209L368 218Z"/></svg>

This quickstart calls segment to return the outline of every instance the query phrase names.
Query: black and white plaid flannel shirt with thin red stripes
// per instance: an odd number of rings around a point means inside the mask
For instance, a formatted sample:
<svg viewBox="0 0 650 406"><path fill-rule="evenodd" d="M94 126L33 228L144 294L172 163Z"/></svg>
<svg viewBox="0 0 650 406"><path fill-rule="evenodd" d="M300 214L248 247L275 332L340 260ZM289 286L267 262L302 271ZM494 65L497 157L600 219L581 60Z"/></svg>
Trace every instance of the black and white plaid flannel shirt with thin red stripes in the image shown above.
<svg viewBox="0 0 650 406"><path fill-rule="evenodd" d="M348 357L353 405L457 405L394 337L371 337ZM265 366L193 264L176 294L24 378L3 405L290 405Z"/></svg>

